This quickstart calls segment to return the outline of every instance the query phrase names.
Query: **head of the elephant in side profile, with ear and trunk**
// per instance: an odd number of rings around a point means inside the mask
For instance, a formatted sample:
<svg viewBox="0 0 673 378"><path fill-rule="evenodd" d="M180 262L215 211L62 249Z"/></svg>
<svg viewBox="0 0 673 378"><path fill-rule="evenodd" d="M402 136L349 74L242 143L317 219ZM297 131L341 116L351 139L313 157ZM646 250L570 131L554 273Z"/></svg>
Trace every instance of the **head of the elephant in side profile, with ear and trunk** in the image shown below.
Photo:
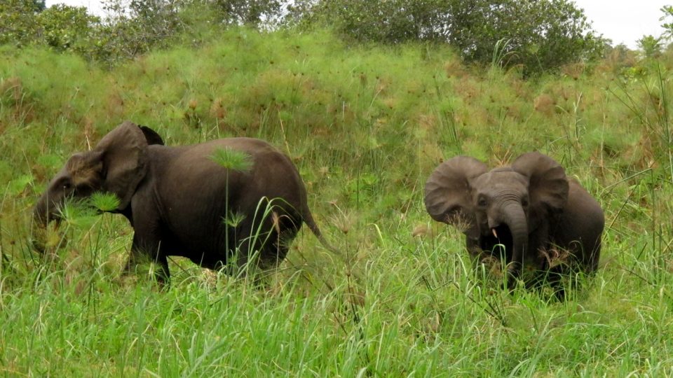
<svg viewBox="0 0 673 378"><path fill-rule="evenodd" d="M97 191L118 197L116 211L128 207L135 188L147 174L149 144L163 141L149 127L127 121L103 137L92 151L72 155L35 205L34 225L45 228L49 221L59 221L64 200Z"/></svg>

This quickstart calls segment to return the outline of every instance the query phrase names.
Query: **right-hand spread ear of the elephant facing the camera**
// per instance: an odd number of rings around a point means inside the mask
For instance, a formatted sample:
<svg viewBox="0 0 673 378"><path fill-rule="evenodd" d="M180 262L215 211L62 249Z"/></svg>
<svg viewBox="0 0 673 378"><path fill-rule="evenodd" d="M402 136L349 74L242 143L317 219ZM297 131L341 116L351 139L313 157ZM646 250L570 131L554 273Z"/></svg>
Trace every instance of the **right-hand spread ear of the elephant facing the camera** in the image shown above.
<svg viewBox="0 0 673 378"><path fill-rule="evenodd" d="M533 221L561 211L568 202L568 179L563 167L547 155L524 153L512 163L512 169L529 178L529 197Z"/></svg>

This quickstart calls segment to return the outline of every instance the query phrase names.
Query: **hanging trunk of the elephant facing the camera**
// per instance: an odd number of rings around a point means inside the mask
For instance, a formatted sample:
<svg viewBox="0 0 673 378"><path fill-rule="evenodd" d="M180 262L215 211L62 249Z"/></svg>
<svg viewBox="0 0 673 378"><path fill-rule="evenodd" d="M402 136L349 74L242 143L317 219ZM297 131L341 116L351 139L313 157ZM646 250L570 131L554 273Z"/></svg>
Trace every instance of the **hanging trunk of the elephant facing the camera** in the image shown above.
<svg viewBox="0 0 673 378"><path fill-rule="evenodd" d="M519 277L528 250L528 221L519 202L510 202L503 207L503 221L512 235L511 260L508 272L512 279Z"/></svg>

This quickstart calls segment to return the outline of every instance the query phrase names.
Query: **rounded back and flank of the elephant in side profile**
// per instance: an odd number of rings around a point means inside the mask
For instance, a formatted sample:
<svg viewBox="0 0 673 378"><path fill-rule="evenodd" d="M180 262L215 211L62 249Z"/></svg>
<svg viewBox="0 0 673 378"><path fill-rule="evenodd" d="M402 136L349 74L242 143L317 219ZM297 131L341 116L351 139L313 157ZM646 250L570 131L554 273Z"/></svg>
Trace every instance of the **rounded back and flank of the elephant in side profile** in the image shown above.
<svg viewBox="0 0 673 378"><path fill-rule="evenodd" d="M247 153L252 165L228 169L214 157L221 148ZM155 165L154 172L163 225L179 234L183 245L191 246L185 253L217 255L222 240L213 235L224 235L222 220L241 214L240 227L245 228L246 222L264 214L264 201L273 201L279 218L291 219L297 228L301 225L306 190L299 172L287 156L266 142L231 138L155 149L163 157L158 158L163 162Z"/></svg>

